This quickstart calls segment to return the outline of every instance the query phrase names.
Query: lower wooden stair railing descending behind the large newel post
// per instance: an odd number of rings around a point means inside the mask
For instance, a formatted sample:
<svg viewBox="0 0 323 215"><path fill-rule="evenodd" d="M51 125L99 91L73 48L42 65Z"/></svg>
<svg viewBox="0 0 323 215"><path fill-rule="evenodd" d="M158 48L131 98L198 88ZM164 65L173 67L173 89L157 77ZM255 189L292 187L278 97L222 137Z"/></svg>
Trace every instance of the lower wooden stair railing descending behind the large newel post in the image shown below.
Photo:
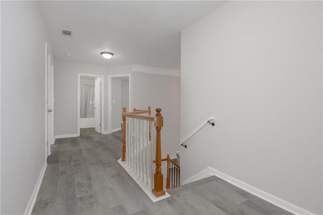
<svg viewBox="0 0 323 215"><path fill-rule="evenodd" d="M168 154L166 158L161 159L161 162L167 162L166 165L166 189L172 189L180 186L180 169L181 167L170 158ZM155 160L153 160L155 163Z"/></svg>

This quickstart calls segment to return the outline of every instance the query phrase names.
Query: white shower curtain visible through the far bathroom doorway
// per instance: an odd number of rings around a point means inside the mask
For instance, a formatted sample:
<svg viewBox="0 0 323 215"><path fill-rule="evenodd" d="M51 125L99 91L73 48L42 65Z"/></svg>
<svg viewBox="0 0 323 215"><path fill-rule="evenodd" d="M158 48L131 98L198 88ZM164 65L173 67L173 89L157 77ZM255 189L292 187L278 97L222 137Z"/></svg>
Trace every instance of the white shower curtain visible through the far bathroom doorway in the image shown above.
<svg viewBox="0 0 323 215"><path fill-rule="evenodd" d="M81 84L81 118L94 117L94 86Z"/></svg>

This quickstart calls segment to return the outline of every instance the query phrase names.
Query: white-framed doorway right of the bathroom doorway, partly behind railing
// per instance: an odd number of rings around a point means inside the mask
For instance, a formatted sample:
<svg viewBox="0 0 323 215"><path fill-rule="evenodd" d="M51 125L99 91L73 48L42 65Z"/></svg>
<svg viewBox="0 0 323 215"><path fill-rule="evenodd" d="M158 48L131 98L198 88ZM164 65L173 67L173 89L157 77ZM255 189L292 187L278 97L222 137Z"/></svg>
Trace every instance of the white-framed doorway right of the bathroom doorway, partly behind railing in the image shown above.
<svg viewBox="0 0 323 215"><path fill-rule="evenodd" d="M122 108L126 107L129 112L131 107L131 76L113 75L108 76L108 123L109 133L122 130Z"/></svg>

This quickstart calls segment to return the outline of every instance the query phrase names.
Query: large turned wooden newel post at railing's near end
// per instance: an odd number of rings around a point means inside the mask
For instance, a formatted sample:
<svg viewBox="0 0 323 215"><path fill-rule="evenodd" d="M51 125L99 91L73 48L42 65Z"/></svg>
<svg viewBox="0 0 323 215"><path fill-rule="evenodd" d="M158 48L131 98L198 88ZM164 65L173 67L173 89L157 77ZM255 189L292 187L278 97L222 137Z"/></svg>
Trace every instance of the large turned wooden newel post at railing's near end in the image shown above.
<svg viewBox="0 0 323 215"><path fill-rule="evenodd" d="M161 173L161 146L160 146L160 130L163 127L163 117L160 112L161 109L156 109L156 117L154 120L154 125L156 127L156 172L153 175L154 185L152 194L156 197L165 195L165 190L163 186L163 174Z"/></svg>

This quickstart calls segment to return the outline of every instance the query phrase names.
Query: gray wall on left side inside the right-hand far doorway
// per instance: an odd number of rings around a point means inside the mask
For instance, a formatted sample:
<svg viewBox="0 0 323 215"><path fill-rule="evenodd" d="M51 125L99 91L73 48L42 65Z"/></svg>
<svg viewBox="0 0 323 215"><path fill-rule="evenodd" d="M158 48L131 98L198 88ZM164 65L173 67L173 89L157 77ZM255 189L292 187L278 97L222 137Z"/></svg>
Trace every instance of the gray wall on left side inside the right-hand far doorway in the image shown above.
<svg viewBox="0 0 323 215"><path fill-rule="evenodd" d="M121 78L111 79L111 97L112 97L112 128L121 128L122 106L121 106Z"/></svg>

